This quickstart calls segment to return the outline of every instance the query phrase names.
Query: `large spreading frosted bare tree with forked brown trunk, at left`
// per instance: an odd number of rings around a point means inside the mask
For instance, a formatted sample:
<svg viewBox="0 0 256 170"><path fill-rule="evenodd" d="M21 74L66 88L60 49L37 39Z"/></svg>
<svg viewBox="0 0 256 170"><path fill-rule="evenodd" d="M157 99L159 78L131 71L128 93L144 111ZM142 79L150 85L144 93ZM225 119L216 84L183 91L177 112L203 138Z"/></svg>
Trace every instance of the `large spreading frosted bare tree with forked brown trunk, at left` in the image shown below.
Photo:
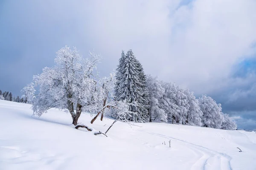
<svg viewBox="0 0 256 170"><path fill-rule="evenodd" d="M83 59L76 48L67 46L57 51L56 66L43 68L41 74L33 77L40 88L32 104L34 115L41 116L49 108L67 109L73 125L77 125L81 111L93 98L93 69L99 59L100 55L94 53L90 53L90 59Z"/></svg>

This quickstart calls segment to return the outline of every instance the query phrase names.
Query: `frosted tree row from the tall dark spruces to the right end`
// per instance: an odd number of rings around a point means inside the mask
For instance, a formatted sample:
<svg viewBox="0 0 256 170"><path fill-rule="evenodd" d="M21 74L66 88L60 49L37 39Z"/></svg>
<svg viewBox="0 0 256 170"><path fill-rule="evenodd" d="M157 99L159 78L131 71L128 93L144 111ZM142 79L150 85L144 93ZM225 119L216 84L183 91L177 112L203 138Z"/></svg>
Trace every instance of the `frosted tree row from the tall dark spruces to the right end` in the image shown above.
<svg viewBox="0 0 256 170"><path fill-rule="evenodd" d="M116 79L116 100L139 103L129 108L133 114L123 119L236 129L236 123L222 112L221 104L211 97L202 95L196 99L189 89L145 75L132 50L127 51L127 54L122 51ZM111 116L117 117L115 113Z"/></svg>

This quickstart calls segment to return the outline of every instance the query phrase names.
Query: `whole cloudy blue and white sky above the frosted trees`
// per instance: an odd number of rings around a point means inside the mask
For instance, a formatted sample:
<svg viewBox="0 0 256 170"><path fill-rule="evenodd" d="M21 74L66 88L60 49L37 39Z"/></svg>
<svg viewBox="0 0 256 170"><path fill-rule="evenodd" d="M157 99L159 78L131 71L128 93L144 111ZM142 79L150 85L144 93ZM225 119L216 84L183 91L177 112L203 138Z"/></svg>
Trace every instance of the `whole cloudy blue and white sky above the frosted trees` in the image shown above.
<svg viewBox="0 0 256 170"><path fill-rule="evenodd" d="M76 46L116 69L132 49L146 74L211 96L256 129L255 0L0 0L0 89L20 90Z"/></svg>

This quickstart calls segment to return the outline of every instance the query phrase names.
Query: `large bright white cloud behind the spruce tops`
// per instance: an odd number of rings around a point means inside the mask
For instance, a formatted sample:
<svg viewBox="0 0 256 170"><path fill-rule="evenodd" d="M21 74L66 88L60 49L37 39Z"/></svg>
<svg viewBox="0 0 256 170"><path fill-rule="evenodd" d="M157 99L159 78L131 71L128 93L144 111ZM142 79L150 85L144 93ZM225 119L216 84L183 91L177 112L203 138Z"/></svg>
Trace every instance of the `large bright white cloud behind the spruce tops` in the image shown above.
<svg viewBox="0 0 256 170"><path fill-rule="evenodd" d="M201 94L223 88L231 67L255 52L256 1L180 3L95 2L84 25L90 31L84 34L91 34L95 46L113 61L121 49L132 48L145 71L160 79Z"/></svg>

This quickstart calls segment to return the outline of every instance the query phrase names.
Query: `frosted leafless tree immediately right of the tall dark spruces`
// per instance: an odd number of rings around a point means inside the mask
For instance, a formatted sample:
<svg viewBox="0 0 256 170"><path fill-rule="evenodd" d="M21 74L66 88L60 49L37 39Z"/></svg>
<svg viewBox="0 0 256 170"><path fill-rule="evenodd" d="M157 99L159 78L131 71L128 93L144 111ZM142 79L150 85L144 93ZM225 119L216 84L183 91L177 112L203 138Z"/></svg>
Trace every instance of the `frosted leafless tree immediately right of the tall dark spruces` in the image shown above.
<svg viewBox="0 0 256 170"><path fill-rule="evenodd" d="M157 77L152 77L150 74L146 76L146 82L149 101L149 122L152 122L152 120L167 122L167 113L163 109L163 105L167 104L163 102L165 89Z"/></svg>

